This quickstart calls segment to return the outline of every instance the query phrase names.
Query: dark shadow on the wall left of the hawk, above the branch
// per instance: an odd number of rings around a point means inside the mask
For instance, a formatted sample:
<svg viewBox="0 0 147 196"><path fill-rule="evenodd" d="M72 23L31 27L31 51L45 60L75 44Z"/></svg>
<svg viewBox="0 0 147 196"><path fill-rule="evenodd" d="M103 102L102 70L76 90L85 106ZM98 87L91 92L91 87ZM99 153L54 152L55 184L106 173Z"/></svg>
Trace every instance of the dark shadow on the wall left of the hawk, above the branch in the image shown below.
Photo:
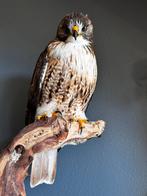
<svg viewBox="0 0 147 196"><path fill-rule="evenodd" d="M0 79L0 148L24 126L29 82L30 78L24 76Z"/></svg>

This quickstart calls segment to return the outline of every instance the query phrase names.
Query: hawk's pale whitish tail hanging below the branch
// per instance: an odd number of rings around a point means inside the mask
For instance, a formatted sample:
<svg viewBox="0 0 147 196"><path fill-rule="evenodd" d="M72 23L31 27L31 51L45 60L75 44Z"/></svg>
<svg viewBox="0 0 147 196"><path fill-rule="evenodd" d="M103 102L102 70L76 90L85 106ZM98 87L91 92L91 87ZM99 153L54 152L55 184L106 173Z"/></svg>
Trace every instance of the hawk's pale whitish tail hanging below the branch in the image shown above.
<svg viewBox="0 0 147 196"><path fill-rule="evenodd" d="M57 150L46 150L34 155L30 186L53 184L56 177Z"/></svg>

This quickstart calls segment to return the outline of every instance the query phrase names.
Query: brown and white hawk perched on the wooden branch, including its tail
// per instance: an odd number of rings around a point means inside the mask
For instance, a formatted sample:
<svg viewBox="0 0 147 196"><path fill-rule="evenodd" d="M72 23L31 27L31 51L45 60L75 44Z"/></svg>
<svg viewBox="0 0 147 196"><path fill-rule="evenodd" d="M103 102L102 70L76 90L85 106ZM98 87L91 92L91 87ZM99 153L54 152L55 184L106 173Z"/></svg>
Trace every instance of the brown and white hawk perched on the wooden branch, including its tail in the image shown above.
<svg viewBox="0 0 147 196"><path fill-rule="evenodd" d="M97 64L93 50L93 25L87 15L71 13L59 23L56 38L41 53L32 77L26 124L58 112L65 120L84 126L85 110L95 90ZM35 154L31 187L52 184L57 149Z"/></svg>

